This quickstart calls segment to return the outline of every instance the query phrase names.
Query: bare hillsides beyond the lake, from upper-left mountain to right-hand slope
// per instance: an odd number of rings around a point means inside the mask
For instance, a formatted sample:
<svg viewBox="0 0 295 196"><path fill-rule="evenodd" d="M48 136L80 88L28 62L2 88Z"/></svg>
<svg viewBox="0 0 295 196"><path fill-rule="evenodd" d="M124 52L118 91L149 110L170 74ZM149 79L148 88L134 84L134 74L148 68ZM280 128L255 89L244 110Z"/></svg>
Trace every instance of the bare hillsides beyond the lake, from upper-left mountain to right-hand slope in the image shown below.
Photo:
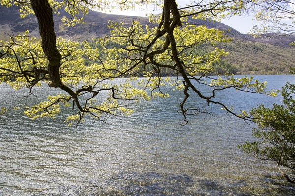
<svg viewBox="0 0 295 196"><path fill-rule="evenodd" d="M152 25L146 17L119 16L89 11L88 15L83 16L85 24L66 27L61 22L61 18L65 15L65 12L61 12L60 15L54 17L57 36L76 41L91 41L92 38L108 34L107 24L110 20L124 22L126 25L131 25L134 20L140 21L143 25ZM223 64L218 65L220 73L227 71L236 74L286 74L289 73L289 67L295 66L295 48L289 45L295 37L253 38L219 22L189 19L189 23L224 30L226 35L233 39L232 43L220 44L221 48L229 52L228 56L223 59ZM8 34L20 34L27 29L31 35L39 36L38 24L34 15L21 19L17 7L0 7L1 40L9 39ZM200 49L207 50L207 46Z"/></svg>

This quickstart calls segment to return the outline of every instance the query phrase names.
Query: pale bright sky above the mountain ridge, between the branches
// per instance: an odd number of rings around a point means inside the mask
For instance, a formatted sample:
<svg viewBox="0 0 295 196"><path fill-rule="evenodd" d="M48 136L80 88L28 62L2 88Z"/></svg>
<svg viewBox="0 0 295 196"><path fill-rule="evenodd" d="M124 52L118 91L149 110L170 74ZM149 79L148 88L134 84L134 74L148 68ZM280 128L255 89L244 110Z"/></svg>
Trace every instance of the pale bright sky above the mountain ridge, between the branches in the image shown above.
<svg viewBox="0 0 295 196"><path fill-rule="evenodd" d="M109 3L110 1L108 1ZM132 1L130 1L132 3ZM177 0L178 7L185 7L185 5L190 4L191 0ZM161 13L161 8L155 4L144 4L142 6L135 5L131 10L126 10L124 7L120 7L120 5L116 2L111 4L106 4L104 6L104 13L109 14L117 14L117 15L128 15L128 16L148 16L149 14L159 14ZM100 10L97 10L100 11ZM247 16L234 16L228 19L223 19L221 22L229 25L230 27L236 29L241 33L248 33L253 26L260 25L259 22L253 21L254 14L250 14Z"/></svg>

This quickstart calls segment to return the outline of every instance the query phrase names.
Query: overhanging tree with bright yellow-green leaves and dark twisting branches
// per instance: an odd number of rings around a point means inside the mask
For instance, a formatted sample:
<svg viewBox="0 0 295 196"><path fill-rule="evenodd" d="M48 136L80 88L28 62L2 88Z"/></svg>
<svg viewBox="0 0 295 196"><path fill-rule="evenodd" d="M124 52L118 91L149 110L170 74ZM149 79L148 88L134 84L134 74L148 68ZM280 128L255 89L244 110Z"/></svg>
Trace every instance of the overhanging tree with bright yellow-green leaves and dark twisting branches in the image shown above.
<svg viewBox="0 0 295 196"><path fill-rule="evenodd" d="M251 115L247 116L245 112L237 114L231 107L216 101L218 92L234 88L252 93L275 93L266 92L266 83L253 80L253 77L235 79L225 74L217 79L211 78L210 75L216 74L214 62L226 55L223 49L214 48L214 45L216 42L229 40L219 30L188 22L188 17L218 19L240 14L247 10L249 2L251 1L200 1L178 8L175 0L163 0L160 1L163 6L162 14L150 19L155 27L143 27L136 21L129 27L123 23L111 23L111 36L96 40L99 49L91 47L88 42L79 44L57 39L53 21L53 12L58 13L59 9L64 9L72 17L63 19L67 25L81 22L82 19L76 16L79 13L87 14L87 7L99 7L99 0L1 1L1 5L11 6L15 3L20 6L22 16L34 13L38 19L41 41L28 37L28 34L11 37L8 42L1 41L0 82L7 82L14 88L27 87L30 92L32 87L47 83L50 87L60 88L64 92L49 96L48 101L25 111L25 114L32 118L54 117L60 112L60 104L78 108L78 113L68 117L69 122L80 122L85 115L103 120L102 115L130 114L132 110L126 106L130 101L149 100L151 96L166 97L168 94L162 92L161 87L171 85L184 93L180 108L185 123L186 115L202 112L200 108L185 107L190 94L196 94L206 101L208 106L217 104L234 116L251 120ZM123 47L107 48L109 42ZM213 49L206 54L196 54L194 47L202 43L209 44ZM86 59L91 63L86 63ZM163 79L163 69L172 70L178 77L183 78L182 81ZM138 83L138 87L129 83L100 85L103 81L119 77L136 80L134 76L138 73L146 77ZM212 79L211 83L206 83L206 78ZM194 82L212 88L211 95L205 95ZM107 98L101 96L104 91L109 92Z"/></svg>

